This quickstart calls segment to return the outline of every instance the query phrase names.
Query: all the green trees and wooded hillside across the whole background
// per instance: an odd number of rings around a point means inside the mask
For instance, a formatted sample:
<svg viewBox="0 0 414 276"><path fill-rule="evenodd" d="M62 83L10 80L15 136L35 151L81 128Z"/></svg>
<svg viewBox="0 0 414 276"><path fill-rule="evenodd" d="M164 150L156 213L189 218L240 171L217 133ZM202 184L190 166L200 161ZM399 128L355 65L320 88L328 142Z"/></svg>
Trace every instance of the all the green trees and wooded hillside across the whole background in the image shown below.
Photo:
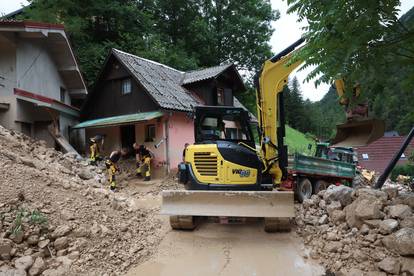
<svg viewBox="0 0 414 276"><path fill-rule="evenodd" d="M414 9L398 18L399 1L385 1L385 6L384 1L377 1L376 5L383 7L380 18L371 22L371 18L356 17L353 24L344 29L343 22L352 16L353 10L344 13L338 1L322 6L307 1L287 1L290 10L296 11L300 20L307 20L309 24L304 34L308 43L297 58L305 60L305 67L317 66L309 76L322 73L316 84L332 82L338 74L361 83L371 114L384 119L387 130L407 134L414 125ZM110 48L181 70L231 61L239 70L254 75L273 54L269 44L274 32L271 22L279 18L279 12L273 10L267 0L30 2L21 18L65 24L90 87ZM367 14L376 13L378 7L368 2L371 1L353 0L348 4ZM321 17L316 18L313 12ZM332 21L333 15L337 16L336 21ZM367 29L367 24L371 28ZM355 30L359 30L358 36L349 42L347 32L355 33ZM338 44L338 41L352 45ZM353 52L338 53L340 47ZM333 70L338 73L334 75ZM245 82L247 90L239 98L255 113L253 81L246 78ZM284 89L287 123L323 139L332 137L335 125L345 118L334 88L314 103L304 100L302 92L295 78Z"/></svg>

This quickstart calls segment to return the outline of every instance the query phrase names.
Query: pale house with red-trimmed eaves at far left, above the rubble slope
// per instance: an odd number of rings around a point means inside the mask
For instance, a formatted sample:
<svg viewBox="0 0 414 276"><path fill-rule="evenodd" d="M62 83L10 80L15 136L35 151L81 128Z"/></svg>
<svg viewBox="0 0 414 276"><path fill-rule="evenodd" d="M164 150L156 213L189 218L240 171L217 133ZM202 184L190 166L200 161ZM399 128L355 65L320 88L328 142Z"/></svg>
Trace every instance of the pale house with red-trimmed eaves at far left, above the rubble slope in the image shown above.
<svg viewBox="0 0 414 276"><path fill-rule="evenodd" d="M51 129L76 141L70 127L78 123L86 95L63 25L0 21L1 125L49 146L55 146Z"/></svg>

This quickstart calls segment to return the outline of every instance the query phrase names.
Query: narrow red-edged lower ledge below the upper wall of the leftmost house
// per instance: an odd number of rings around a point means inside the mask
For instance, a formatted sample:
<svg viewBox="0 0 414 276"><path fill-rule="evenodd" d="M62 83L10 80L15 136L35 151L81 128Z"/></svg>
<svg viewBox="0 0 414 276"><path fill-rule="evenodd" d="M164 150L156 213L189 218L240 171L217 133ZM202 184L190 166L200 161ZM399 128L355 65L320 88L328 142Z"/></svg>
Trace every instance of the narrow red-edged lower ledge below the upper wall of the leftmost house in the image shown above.
<svg viewBox="0 0 414 276"><path fill-rule="evenodd" d="M64 113L66 115L70 115L72 117L78 118L80 116L79 109L77 109L74 106L64 104L60 101L57 101L55 99L51 99L49 97L45 97L42 95L38 95L32 92L28 92L25 90L21 90L18 88L14 89L14 94L16 95L17 99L30 102L35 104L36 106L40 107L47 107L50 109L54 109L56 111L59 111L61 113Z"/></svg>

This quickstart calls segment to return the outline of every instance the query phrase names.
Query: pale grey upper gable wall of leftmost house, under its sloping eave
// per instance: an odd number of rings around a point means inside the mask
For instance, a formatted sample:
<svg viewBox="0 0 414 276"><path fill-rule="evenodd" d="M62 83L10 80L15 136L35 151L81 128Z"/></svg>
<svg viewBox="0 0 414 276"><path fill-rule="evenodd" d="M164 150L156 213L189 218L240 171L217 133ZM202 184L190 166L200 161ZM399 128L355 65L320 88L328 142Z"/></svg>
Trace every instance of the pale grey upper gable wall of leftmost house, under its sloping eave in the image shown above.
<svg viewBox="0 0 414 276"><path fill-rule="evenodd" d="M60 101L65 84L44 41L19 39L16 50L17 88Z"/></svg>

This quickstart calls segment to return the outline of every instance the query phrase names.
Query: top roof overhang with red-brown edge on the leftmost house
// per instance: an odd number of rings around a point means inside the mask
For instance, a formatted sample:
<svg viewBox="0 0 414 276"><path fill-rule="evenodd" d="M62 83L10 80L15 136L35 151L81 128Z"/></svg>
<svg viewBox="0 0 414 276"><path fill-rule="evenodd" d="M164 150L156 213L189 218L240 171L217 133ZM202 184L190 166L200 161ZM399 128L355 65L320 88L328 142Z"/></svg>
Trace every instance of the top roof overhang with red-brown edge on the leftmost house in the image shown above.
<svg viewBox="0 0 414 276"><path fill-rule="evenodd" d="M42 39L65 83L69 95L84 98L87 95L85 81L80 72L75 55L61 24L33 21L0 21L0 33L17 34L25 39Z"/></svg>

